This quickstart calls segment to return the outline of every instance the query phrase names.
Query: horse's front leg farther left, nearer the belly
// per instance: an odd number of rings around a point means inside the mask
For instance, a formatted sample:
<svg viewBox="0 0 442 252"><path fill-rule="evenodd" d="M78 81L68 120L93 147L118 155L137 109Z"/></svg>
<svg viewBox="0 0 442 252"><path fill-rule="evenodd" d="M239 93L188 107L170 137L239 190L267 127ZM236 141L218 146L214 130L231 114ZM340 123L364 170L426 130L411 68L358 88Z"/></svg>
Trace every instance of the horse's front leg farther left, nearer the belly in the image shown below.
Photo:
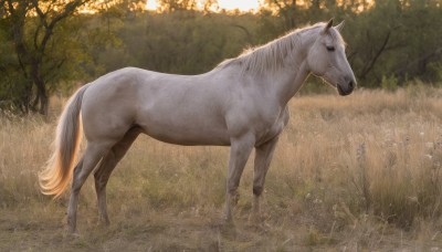
<svg viewBox="0 0 442 252"><path fill-rule="evenodd" d="M229 171L227 181L225 216L227 222L232 223L232 207L238 202L238 187L245 162L253 149L254 136L245 135L231 140Z"/></svg>

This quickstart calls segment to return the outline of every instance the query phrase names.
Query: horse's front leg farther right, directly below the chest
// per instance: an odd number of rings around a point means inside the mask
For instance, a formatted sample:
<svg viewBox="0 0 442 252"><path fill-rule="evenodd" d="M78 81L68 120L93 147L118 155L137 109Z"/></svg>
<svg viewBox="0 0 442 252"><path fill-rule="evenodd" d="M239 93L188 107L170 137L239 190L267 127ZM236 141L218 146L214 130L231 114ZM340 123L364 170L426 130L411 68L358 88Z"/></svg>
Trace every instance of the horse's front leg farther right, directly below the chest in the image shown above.
<svg viewBox="0 0 442 252"><path fill-rule="evenodd" d="M265 175L272 161L278 136L255 148L255 162L253 172L253 203L249 221L259 224L261 221L260 199L264 190Z"/></svg>

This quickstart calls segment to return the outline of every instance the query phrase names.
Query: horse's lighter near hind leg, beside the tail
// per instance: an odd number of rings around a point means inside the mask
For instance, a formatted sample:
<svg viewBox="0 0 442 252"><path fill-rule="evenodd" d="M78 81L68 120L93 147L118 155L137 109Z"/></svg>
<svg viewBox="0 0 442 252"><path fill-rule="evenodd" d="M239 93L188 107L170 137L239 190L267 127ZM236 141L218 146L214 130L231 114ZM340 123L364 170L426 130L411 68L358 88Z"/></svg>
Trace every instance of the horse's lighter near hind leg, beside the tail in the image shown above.
<svg viewBox="0 0 442 252"><path fill-rule="evenodd" d="M78 204L80 189L84 181L86 181L87 176L107 150L108 147L106 145L87 143L86 151L74 169L71 199L67 207L67 228L70 233L76 232L76 209Z"/></svg>

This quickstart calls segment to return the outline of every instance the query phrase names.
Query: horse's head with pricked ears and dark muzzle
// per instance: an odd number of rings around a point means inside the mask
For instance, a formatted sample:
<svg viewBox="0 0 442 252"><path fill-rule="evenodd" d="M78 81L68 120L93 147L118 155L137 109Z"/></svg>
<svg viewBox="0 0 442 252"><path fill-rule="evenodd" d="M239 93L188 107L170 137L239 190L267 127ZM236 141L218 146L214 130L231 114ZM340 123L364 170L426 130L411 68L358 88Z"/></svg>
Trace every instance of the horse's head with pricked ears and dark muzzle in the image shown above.
<svg viewBox="0 0 442 252"><path fill-rule="evenodd" d="M307 54L313 74L335 86L340 95L349 95L356 87L355 74L345 54L345 42L339 34L344 22L333 27L330 20L319 32Z"/></svg>

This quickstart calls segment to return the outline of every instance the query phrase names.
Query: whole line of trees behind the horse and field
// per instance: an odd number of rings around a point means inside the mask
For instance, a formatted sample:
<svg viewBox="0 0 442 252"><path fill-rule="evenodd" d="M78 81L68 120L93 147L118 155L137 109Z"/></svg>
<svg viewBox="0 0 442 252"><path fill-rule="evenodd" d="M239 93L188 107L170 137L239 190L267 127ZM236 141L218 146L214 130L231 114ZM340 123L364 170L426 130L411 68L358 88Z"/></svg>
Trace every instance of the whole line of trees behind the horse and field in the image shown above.
<svg viewBox="0 0 442 252"><path fill-rule="evenodd" d="M0 0L0 108L48 114L51 94L124 66L203 73L330 18L346 21L360 86L442 82L442 0L266 0L256 13L197 2L161 0L154 12L133 0Z"/></svg>

